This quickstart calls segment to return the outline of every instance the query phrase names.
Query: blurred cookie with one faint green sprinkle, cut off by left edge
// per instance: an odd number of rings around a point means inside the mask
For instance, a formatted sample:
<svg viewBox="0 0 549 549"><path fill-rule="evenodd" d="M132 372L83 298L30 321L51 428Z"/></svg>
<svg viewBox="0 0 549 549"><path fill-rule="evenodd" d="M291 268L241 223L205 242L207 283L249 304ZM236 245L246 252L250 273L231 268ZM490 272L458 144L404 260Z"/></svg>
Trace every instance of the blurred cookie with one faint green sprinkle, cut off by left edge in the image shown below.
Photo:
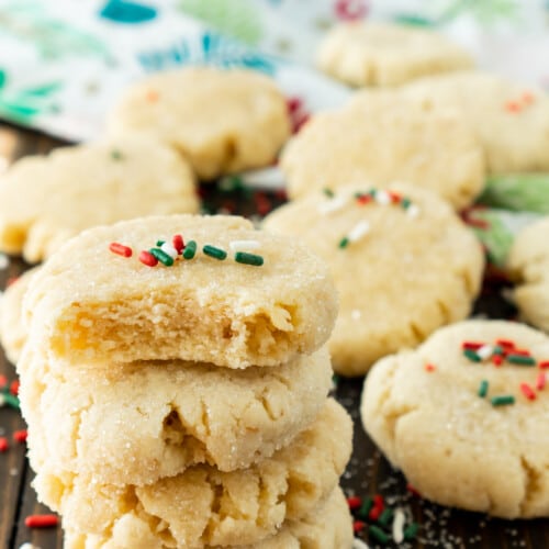
<svg viewBox="0 0 549 549"><path fill-rule="evenodd" d="M0 250L41 261L85 228L198 209L188 164L159 143L124 136L64 147L0 176Z"/></svg>

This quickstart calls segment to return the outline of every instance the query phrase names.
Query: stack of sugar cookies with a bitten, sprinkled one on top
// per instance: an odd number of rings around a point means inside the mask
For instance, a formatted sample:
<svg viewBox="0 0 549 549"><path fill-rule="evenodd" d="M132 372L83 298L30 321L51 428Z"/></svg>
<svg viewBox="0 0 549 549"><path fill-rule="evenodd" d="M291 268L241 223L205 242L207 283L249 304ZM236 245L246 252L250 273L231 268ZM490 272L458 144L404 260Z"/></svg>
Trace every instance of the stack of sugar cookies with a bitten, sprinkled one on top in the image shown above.
<svg viewBox="0 0 549 549"><path fill-rule="evenodd" d="M66 547L349 548L351 422L326 397L336 299L239 217L97 227L30 282L18 369Z"/></svg>

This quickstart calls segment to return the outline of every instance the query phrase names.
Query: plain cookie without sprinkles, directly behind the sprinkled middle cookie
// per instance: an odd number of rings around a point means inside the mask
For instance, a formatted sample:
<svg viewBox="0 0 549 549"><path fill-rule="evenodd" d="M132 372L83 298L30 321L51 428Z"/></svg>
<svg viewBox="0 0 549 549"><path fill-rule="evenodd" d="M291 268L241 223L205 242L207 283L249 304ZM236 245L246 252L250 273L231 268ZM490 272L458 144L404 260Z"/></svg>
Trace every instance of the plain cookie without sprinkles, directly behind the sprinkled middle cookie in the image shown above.
<svg viewBox="0 0 549 549"><path fill-rule="evenodd" d="M281 168L293 199L347 183L407 181L461 209L484 186L482 147L461 112L390 90L360 92L313 116L284 148Z"/></svg>

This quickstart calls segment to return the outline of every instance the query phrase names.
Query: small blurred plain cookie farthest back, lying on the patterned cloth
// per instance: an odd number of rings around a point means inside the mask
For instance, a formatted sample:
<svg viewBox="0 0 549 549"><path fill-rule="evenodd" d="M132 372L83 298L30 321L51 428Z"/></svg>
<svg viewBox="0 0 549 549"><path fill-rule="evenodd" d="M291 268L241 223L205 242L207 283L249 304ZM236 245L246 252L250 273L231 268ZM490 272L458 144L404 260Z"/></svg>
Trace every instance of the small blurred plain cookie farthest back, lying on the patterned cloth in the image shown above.
<svg viewBox="0 0 549 549"><path fill-rule="evenodd" d="M432 31L349 22L327 34L316 64L352 86L396 86L426 75L469 68L473 60L457 44Z"/></svg>

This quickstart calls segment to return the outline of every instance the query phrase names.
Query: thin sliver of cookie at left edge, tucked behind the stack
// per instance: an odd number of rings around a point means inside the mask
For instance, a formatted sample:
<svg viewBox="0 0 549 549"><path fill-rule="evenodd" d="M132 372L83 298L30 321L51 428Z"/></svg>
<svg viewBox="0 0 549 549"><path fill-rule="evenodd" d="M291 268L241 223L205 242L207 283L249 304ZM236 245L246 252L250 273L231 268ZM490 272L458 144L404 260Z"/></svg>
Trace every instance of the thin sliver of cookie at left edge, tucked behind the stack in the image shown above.
<svg viewBox="0 0 549 549"><path fill-rule="evenodd" d="M5 289L0 301L0 343L13 365L18 362L26 341L26 327L21 314L23 296L38 269L34 267L23 272Z"/></svg>

